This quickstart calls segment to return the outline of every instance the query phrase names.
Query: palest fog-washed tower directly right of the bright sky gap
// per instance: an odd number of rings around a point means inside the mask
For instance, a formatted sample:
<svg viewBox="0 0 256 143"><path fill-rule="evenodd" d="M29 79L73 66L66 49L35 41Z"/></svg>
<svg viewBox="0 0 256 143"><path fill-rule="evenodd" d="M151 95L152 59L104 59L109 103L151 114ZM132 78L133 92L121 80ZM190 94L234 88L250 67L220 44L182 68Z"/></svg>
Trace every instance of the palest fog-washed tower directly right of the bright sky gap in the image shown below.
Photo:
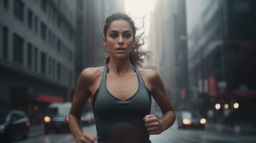
<svg viewBox="0 0 256 143"><path fill-rule="evenodd" d="M174 24L170 9L172 1L162 0L156 3L155 11L151 17L150 51L152 51L152 64L157 67L163 79L166 91L174 96Z"/></svg>

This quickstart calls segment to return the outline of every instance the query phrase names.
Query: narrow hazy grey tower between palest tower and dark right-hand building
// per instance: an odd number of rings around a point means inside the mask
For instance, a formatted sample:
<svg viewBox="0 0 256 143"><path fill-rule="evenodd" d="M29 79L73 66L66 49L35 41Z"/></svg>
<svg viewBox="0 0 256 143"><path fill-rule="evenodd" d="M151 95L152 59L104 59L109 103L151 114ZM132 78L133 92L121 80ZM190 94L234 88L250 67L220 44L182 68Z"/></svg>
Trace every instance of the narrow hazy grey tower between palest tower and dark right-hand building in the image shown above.
<svg viewBox="0 0 256 143"><path fill-rule="evenodd" d="M188 52L186 35L186 0L175 0L173 2L174 21L174 53L176 73L176 96L181 103L179 109L189 109L189 74L188 74Z"/></svg>

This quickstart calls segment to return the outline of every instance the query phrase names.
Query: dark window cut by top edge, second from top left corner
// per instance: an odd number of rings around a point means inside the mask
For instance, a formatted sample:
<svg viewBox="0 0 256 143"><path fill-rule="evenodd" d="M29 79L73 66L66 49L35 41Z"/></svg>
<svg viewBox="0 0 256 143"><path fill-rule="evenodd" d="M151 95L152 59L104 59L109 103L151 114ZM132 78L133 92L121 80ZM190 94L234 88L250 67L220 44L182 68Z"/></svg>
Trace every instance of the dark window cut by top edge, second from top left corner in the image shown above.
<svg viewBox="0 0 256 143"><path fill-rule="evenodd" d="M14 1L14 16L20 21L24 21L24 3L21 0Z"/></svg>

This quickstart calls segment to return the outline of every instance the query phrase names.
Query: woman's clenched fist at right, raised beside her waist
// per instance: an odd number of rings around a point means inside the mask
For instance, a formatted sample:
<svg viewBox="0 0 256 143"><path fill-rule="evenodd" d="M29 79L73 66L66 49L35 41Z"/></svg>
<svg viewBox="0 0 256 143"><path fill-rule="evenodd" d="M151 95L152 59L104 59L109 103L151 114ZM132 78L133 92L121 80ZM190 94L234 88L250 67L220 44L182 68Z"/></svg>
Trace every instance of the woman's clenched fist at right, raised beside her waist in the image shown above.
<svg viewBox="0 0 256 143"><path fill-rule="evenodd" d="M148 129L149 134L161 134L165 130L161 120L158 119L153 114L148 114L143 118L146 128Z"/></svg>

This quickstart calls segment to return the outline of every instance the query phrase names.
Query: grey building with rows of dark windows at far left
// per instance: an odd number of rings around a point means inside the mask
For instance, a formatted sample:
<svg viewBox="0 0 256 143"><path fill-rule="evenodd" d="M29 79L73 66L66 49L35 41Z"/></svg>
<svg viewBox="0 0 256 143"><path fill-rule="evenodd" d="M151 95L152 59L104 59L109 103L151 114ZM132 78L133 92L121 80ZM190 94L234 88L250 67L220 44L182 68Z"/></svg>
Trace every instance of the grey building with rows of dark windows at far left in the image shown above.
<svg viewBox="0 0 256 143"><path fill-rule="evenodd" d="M75 11L71 1L0 1L0 109L33 119L75 87Z"/></svg>

